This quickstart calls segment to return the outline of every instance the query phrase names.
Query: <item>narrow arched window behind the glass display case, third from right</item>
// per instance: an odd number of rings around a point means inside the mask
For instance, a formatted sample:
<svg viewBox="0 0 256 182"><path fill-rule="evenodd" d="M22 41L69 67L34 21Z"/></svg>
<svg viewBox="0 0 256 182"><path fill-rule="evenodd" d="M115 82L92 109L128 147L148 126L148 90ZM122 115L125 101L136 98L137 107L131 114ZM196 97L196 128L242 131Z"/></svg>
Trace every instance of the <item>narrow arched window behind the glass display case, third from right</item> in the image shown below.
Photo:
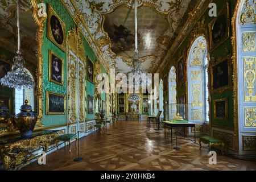
<svg viewBox="0 0 256 182"><path fill-rule="evenodd" d="M177 91L176 91L176 69L171 67L169 73L169 119L173 119L177 111Z"/></svg>

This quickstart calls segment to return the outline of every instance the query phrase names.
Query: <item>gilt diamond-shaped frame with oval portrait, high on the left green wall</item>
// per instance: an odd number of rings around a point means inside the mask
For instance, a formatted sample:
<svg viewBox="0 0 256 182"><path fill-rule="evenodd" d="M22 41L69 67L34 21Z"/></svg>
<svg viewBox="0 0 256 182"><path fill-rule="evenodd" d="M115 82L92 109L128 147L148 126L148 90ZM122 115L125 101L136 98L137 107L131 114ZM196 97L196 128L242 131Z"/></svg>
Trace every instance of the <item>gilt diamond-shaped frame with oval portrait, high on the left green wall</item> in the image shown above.
<svg viewBox="0 0 256 182"><path fill-rule="evenodd" d="M60 19L57 13L52 9L51 5L47 6L47 38L51 40L63 52L66 51L65 23ZM55 25L53 25L55 23ZM53 27L55 26L55 27ZM56 30L58 28L58 30ZM56 31L55 33L53 33Z"/></svg>

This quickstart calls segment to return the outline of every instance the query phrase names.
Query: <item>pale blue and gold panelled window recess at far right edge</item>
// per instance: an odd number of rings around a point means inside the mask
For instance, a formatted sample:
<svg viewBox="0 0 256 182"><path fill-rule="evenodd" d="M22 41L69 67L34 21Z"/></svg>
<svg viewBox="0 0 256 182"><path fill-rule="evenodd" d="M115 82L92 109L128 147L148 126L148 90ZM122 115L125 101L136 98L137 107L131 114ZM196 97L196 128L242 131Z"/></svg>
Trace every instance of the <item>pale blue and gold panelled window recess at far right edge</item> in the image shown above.
<svg viewBox="0 0 256 182"><path fill-rule="evenodd" d="M245 152L246 146L255 141L251 133L256 131L256 12L255 1L245 0L238 4L236 17L237 60L234 63L236 78L239 152ZM238 103L236 103L238 102ZM250 137L248 137L250 136ZM250 142L252 141L252 142ZM247 142L245 144L244 142ZM251 152L255 152L251 151Z"/></svg>

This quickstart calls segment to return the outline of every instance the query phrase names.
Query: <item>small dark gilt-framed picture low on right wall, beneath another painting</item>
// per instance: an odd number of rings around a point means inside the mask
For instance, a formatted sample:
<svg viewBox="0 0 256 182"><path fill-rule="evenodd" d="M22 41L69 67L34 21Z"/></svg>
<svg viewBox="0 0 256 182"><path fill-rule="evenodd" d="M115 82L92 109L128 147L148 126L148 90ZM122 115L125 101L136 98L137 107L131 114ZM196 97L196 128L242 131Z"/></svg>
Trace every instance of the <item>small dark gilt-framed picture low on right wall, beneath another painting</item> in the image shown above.
<svg viewBox="0 0 256 182"><path fill-rule="evenodd" d="M228 120L228 98L221 98L213 101L214 119Z"/></svg>

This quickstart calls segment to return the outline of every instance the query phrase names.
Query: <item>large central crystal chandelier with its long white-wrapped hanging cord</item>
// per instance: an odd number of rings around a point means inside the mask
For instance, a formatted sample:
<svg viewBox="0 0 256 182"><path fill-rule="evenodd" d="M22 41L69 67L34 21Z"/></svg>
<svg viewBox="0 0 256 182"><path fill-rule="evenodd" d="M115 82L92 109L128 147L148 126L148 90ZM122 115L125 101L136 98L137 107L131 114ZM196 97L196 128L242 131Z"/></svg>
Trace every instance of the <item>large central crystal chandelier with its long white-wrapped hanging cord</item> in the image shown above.
<svg viewBox="0 0 256 182"><path fill-rule="evenodd" d="M142 87L142 86L150 86L151 85L151 80L147 76L147 73L142 71L141 69L141 61L139 61L139 56L138 56L138 33L137 33L137 27L138 27L138 22L137 22L137 0L134 1L134 10L135 10L135 54L133 57L133 63L131 64L131 71L127 73L127 77L129 75L134 75L134 76L139 76L139 82L133 81L133 87L135 86Z"/></svg>

